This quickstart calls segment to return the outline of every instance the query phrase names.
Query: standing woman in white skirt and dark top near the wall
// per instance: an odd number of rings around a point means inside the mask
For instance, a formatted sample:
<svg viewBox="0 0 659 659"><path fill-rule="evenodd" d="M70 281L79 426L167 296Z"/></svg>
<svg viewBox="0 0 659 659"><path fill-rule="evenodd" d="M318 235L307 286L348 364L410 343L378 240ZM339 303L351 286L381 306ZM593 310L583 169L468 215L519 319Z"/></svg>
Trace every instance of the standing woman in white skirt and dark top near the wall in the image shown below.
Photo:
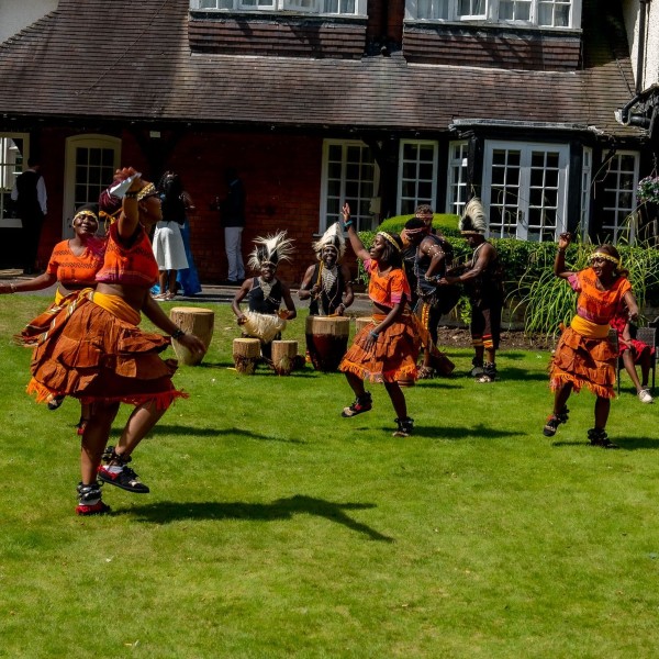
<svg viewBox="0 0 659 659"><path fill-rule="evenodd" d="M163 220L156 224L154 255L160 271L160 292L156 300L172 300L176 297L176 275L188 268L181 225L186 221L183 187L178 174L166 171L158 183L163 202Z"/></svg>

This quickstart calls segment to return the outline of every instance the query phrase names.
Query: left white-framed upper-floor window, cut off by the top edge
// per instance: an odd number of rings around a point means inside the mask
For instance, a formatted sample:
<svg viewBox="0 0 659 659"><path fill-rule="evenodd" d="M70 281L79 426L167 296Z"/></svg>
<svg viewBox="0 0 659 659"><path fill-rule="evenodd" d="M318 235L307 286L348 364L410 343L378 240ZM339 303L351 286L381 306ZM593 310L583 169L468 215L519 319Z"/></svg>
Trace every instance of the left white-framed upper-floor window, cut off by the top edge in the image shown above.
<svg viewBox="0 0 659 659"><path fill-rule="evenodd" d="M367 0L190 0L192 10L268 11L366 16Z"/></svg>

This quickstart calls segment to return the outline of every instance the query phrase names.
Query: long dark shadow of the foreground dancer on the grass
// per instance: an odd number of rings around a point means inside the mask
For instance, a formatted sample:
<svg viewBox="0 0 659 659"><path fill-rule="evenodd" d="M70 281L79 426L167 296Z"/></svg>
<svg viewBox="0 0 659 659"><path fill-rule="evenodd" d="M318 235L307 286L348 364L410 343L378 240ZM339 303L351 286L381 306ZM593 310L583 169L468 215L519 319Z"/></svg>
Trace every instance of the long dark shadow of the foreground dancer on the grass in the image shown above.
<svg viewBox="0 0 659 659"><path fill-rule="evenodd" d="M361 511L373 509L373 503L335 503L295 494L288 499L278 499L272 503L245 503L235 502L187 502L176 503L161 501L148 505L138 505L130 511L115 513L135 515L138 522L153 524L170 524L181 520L245 520L271 522L276 520L291 520L293 515L305 514L325 517L330 522L340 524L350 530L364 534L371 540L394 543L394 538L382 535L366 524L361 524L348 516L344 511Z"/></svg>

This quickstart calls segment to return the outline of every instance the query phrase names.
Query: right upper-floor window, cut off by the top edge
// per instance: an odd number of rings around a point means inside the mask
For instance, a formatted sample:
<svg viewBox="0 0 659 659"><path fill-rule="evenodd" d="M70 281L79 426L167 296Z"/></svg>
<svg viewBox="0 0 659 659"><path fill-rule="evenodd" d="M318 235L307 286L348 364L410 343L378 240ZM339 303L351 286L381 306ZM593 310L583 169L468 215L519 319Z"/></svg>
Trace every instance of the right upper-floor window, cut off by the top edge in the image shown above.
<svg viewBox="0 0 659 659"><path fill-rule="evenodd" d="M406 0L405 19L580 27L581 0Z"/></svg>

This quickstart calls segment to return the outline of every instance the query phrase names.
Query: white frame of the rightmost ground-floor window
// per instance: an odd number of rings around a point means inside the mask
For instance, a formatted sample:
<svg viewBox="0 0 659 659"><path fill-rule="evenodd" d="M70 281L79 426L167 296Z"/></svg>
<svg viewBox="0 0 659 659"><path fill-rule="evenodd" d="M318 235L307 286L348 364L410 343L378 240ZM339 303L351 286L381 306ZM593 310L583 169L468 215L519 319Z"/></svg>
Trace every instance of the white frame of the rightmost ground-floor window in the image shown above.
<svg viewBox="0 0 659 659"><path fill-rule="evenodd" d="M623 157L634 158L633 169L622 168L621 160ZM636 241L635 211L637 206L636 189L638 188L639 159L638 152L618 150L606 165L606 175L603 181L604 205L602 206L602 226L600 231L603 234L601 237L606 236L606 241L613 241L614 245L617 245L621 235L628 239L630 245ZM621 183L621 179L624 179L625 175L632 175L629 188L624 188ZM606 205L607 198L611 194L615 196L615 204ZM625 197L629 199L628 205L621 201L621 198ZM607 222L607 219L613 221Z"/></svg>

